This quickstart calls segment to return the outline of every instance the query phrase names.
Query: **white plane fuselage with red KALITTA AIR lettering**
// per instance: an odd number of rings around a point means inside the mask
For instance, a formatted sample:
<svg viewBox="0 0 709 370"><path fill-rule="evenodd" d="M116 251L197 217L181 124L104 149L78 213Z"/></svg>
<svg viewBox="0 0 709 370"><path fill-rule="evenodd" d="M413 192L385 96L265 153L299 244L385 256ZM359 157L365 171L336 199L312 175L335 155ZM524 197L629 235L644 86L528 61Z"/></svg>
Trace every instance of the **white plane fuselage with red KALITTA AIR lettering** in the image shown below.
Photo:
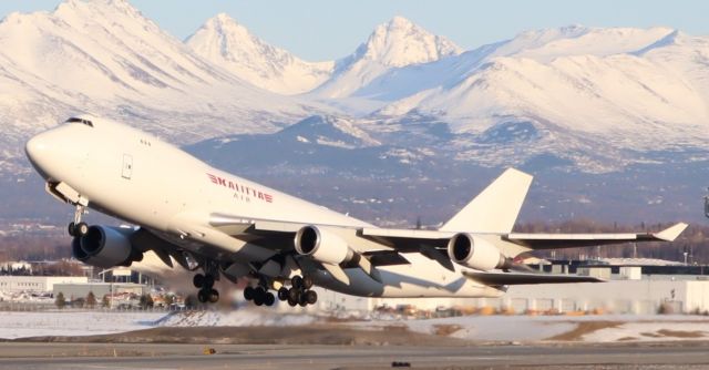
<svg viewBox="0 0 709 370"><path fill-rule="evenodd" d="M373 227L362 220L216 169L150 134L107 120L93 126L66 123L27 144L34 167L50 183L63 183L89 206L125 219L194 253L229 261L263 261L291 246L255 246L215 230L209 215L273 219L348 228ZM258 153L243 153L244 156ZM201 243L181 235L199 235ZM194 239L192 241L195 241ZM358 245L351 245L354 250ZM411 264L381 266L378 282L361 269L346 269L349 284L326 273L317 282L345 294L379 297L497 297L502 290L465 278L421 254Z"/></svg>

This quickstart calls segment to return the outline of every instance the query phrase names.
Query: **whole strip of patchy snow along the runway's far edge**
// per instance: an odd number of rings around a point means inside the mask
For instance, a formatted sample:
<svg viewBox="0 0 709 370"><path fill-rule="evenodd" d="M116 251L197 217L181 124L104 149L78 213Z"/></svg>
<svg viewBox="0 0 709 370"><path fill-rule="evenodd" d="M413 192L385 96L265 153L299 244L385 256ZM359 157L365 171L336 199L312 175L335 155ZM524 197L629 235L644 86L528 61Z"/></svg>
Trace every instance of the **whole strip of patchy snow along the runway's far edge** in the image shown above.
<svg viewBox="0 0 709 370"><path fill-rule="evenodd" d="M92 336L154 327L291 327L323 321L307 314L246 308L235 311L79 311L53 310L2 312L0 338L42 336ZM372 319L342 325L381 330L405 326L421 333L476 341L545 341L568 333L584 322L600 322L595 329L571 338L584 342L709 340L709 317L705 316L467 316L438 319ZM337 329L335 329L337 330Z"/></svg>

